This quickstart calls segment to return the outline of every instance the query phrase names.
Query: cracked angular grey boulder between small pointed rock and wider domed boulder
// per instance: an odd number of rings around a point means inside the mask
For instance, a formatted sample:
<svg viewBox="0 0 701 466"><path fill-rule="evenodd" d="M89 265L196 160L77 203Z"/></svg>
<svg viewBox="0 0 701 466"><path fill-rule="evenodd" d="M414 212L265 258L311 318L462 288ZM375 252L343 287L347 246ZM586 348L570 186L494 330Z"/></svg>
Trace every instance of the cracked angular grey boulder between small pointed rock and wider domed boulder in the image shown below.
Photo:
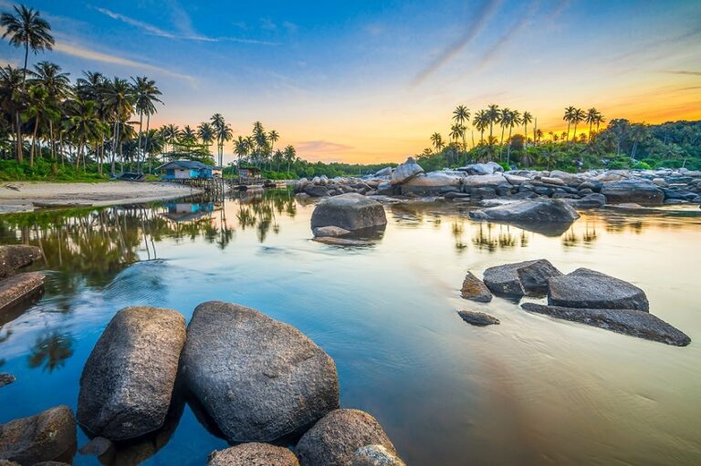
<svg viewBox="0 0 701 466"><path fill-rule="evenodd" d="M527 294L544 294L548 290L550 277L562 273L549 261L519 262L497 265L485 270L485 285L495 295L519 298Z"/></svg>

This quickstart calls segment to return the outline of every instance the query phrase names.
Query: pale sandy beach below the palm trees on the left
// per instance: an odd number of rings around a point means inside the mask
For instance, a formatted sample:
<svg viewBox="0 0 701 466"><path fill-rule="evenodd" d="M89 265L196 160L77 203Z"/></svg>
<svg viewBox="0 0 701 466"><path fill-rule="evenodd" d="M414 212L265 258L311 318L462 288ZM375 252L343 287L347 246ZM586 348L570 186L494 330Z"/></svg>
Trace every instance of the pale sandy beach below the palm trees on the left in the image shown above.
<svg viewBox="0 0 701 466"><path fill-rule="evenodd" d="M201 192L167 182L21 182L0 184L0 213L33 211L36 207L99 206L151 202ZM38 204L38 205L37 205Z"/></svg>

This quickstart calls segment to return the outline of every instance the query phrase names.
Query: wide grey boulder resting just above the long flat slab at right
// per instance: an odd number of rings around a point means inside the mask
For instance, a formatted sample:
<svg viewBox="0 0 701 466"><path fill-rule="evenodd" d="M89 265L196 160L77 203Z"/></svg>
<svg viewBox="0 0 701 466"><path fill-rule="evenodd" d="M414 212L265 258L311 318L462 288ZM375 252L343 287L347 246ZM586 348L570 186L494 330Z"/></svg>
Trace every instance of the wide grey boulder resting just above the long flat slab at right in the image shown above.
<svg viewBox="0 0 701 466"><path fill-rule="evenodd" d="M548 304L564 307L648 311L645 292L635 285L587 268L549 279Z"/></svg>

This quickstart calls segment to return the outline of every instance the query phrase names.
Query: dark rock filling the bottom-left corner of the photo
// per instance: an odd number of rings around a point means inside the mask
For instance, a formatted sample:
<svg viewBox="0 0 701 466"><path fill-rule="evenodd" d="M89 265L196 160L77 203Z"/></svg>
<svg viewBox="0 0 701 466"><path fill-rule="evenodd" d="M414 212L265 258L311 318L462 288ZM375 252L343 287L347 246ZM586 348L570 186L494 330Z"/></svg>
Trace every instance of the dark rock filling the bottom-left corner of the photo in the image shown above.
<svg viewBox="0 0 701 466"><path fill-rule="evenodd" d="M76 419L68 406L0 424L0 460L19 464L71 461L76 442Z"/></svg>

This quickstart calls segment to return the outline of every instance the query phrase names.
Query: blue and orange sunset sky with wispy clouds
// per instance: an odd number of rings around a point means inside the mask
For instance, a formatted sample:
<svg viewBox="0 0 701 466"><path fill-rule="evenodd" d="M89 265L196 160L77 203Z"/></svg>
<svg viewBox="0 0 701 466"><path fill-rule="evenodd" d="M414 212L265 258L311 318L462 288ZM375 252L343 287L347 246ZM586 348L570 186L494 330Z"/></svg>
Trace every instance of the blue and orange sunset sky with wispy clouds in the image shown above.
<svg viewBox="0 0 701 466"><path fill-rule="evenodd" d="M260 120L309 161L403 161L434 131L448 138L458 104L528 110L546 132L564 129L570 105L606 119L701 119L699 0L25 5L56 38L32 62L72 78L148 76L165 103L152 126L219 112L237 136ZM0 44L0 64L22 59Z"/></svg>

